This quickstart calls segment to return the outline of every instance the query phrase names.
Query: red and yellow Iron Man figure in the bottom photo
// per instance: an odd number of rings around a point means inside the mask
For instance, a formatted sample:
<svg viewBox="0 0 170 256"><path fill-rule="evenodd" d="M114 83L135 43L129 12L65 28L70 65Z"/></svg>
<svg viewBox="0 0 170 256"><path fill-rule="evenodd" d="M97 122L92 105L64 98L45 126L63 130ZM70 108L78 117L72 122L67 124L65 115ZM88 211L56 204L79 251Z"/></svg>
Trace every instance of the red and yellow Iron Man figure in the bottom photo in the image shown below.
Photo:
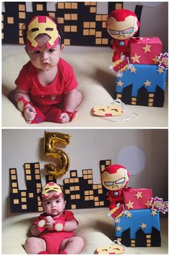
<svg viewBox="0 0 170 256"><path fill-rule="evenodd" d="M106 196L110 201L109 210L113 210L117 204L123 204L123 191L129 191L126 188L129 181L129 173L122 165L109 165L101 173L101 182L108 189Z"/></svg>

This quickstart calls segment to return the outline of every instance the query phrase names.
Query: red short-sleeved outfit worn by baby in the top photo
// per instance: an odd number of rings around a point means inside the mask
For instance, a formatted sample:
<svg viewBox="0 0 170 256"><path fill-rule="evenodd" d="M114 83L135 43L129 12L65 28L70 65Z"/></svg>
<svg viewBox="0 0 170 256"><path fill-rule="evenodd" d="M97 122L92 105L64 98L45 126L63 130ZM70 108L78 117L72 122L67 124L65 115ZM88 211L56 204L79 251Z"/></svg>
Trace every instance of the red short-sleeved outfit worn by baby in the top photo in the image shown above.
<svg viewBox="0 0 170 256"><path fill-rule="evenodd" d="M41 123L45 120L55 122L53 120L54 110L59 110L59 103L61 106L64 94L78 86L72 66L61 58L59 59L56 78L48 86L43 86L40 83L37 70L30 61L22 67L15 83L19 91L23 90L29 94L30 102L33 103L33 107L38 112L39 120L32 123Z"/></svg>

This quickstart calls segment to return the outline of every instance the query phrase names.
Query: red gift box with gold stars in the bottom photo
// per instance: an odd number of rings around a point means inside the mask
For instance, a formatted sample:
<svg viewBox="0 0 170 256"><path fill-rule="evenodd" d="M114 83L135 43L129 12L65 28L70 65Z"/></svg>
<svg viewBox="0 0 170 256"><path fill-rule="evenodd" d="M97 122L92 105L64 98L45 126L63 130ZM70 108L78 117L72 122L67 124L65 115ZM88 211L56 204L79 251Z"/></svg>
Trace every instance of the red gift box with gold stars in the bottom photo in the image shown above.
<svg viewBox="0 0 170 256"><path fill-rule="evenodd" d="M125 210L149 209L153 191L152 189L132 189L123 191L123 197Z"/></svg>

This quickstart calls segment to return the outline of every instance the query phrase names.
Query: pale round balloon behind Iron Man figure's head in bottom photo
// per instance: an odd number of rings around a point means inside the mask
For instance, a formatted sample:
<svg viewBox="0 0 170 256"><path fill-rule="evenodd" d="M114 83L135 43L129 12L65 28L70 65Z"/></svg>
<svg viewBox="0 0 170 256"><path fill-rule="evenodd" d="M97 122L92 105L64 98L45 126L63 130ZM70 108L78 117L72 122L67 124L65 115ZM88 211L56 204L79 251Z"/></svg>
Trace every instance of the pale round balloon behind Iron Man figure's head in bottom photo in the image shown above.
<svg viewBox="0 0 170 256"><path fill-rule="evenodd" d="M140 173L145 167L145 154L137 146L126 146L117 156L118 165L127 168L130 176Z"/></svg>

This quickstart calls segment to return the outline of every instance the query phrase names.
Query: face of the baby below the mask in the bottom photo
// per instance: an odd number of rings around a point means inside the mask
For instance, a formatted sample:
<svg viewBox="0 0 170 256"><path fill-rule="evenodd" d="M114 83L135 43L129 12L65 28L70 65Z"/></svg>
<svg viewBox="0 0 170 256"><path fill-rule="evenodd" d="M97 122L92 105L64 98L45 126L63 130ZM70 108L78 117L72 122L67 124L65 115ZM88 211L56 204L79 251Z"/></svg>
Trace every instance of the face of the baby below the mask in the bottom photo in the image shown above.
<svg viewBox="0 0 170 256"><path fill-rule="evenodd" d="M64 211L66 201L64 201L63 195L56 197L54 193L50 193L48 198L43 198L42 205L47 215L57 217Z"/></svg>

